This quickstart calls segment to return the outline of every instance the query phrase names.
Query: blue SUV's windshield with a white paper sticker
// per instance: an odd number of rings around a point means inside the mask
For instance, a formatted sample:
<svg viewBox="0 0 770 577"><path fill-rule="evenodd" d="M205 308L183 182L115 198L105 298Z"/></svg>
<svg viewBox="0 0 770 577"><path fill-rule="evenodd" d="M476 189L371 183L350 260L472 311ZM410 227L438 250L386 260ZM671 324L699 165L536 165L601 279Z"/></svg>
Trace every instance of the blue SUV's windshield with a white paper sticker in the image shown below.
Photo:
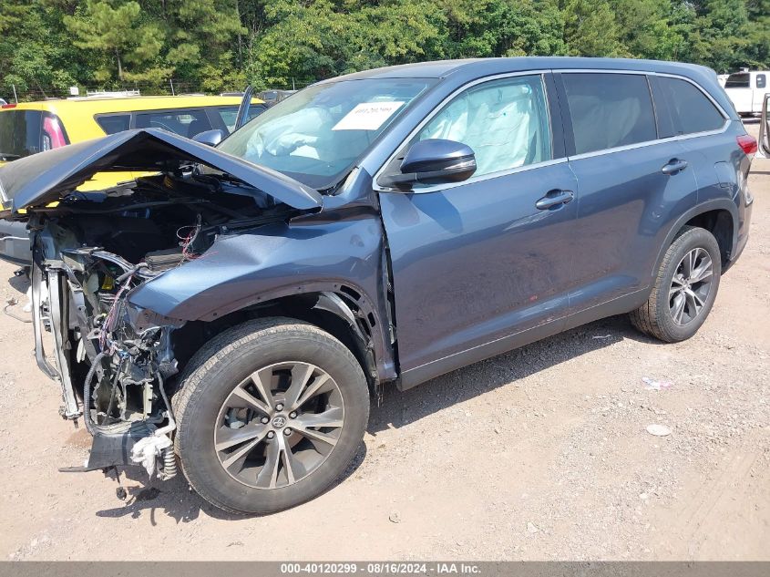
<svg viewBox="0 0 770 577"><path fill-rule="evenodd" d="M323 190L341 180L388 124L434 83L366 78L304 88L218 148Z"/></svg>

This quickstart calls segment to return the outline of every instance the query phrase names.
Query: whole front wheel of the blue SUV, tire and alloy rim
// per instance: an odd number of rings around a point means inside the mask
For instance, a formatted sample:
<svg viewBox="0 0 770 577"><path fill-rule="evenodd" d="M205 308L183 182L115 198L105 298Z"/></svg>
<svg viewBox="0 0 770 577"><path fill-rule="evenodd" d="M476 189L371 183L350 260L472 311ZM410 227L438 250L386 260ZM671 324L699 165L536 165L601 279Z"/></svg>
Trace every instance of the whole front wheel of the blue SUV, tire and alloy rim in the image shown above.
<svg viewBox="0 0 770 577"><path fill-rule="evenodd" d="M268 513L338 479L364 437L369 394L351 351L292 319L251 321L190 361L176 403L190 485L223 510Z"/></svg>

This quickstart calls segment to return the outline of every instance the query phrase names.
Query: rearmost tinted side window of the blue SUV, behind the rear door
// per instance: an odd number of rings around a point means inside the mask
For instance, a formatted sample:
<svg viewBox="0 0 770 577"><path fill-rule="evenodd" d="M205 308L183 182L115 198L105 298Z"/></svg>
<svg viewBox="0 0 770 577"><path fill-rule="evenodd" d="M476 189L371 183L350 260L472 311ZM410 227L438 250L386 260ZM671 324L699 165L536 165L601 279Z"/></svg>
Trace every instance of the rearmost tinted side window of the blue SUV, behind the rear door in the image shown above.
<svg viewBox="0 0 770 577"><path fill-rule="evenodd" d="M679 78L658 77L657 86L655 100L658 101L659 90L671 111L673 134L706 132L721 129L724 125L722 113L692 83ZM672 134L662 133L661 136Z"/></svg>

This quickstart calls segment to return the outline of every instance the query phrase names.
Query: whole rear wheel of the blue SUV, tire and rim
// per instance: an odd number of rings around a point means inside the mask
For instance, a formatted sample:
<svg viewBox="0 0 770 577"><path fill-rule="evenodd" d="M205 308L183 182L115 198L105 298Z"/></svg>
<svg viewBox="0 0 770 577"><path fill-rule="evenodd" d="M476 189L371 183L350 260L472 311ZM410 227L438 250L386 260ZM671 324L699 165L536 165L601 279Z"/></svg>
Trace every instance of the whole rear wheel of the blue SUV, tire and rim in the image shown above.
<svg viewBox="0 0 770 577"><path fill-rule="evenodd" d="M685 227L666 251L647 303L631 313L631 323L667 343L690 338L714 305L721 274L714 235Z"/></svg>

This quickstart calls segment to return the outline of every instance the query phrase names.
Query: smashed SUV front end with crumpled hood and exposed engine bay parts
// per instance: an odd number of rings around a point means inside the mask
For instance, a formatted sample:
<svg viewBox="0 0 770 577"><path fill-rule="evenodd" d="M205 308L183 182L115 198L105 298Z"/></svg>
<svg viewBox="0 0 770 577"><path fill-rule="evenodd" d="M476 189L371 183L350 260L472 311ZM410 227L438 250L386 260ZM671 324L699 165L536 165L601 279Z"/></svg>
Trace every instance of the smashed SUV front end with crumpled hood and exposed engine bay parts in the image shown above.
<svg viewBox="0 0 770 577"><path fill-rule="evenodd" d="M82 417L94 437L87 463L75 469L142 465L150 477L172 477L169 394L180 366L174 332L185 321L129 297L205 259L221 235L318 210L320 197L157 130L61 150L56 158L36 155L0 170L3 216L27 220L31 234L37 364L61 387L62 417ZM114 190L75 191L102 170L161 172Z"/></svg>

